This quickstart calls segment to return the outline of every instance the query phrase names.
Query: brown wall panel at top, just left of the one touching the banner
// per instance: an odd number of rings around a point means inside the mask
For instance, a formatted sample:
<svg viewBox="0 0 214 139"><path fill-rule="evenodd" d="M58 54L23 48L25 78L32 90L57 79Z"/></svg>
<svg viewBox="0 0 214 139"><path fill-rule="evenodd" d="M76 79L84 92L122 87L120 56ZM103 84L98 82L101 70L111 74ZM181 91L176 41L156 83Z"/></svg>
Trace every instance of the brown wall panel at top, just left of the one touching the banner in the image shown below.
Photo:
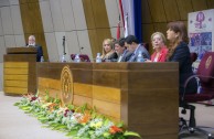
<svg viewBox="0 0 214 139"><path fill-rule="evenodd" d="M174 0L163 0L164 13L167 21L178 21L180 20L180 13L178 10L176 1Z"/></svg>

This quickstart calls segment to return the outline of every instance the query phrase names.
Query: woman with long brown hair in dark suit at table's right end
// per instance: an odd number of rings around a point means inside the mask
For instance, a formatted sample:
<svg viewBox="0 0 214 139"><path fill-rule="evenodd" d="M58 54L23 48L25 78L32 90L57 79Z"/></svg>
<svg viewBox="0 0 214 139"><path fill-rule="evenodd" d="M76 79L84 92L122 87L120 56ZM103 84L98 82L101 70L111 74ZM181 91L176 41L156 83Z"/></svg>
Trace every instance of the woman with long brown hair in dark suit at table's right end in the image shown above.
<svg viewBox="0 0 214 139"><path fill-rule="evenodd" d="M170 22L167 39L170 41L167 61L179 62L179 90L183 94L185 81L193 75L185 24L181 21ZM192 78L185 88L185 94L194 94L196 90L196 79Z"/></svg>

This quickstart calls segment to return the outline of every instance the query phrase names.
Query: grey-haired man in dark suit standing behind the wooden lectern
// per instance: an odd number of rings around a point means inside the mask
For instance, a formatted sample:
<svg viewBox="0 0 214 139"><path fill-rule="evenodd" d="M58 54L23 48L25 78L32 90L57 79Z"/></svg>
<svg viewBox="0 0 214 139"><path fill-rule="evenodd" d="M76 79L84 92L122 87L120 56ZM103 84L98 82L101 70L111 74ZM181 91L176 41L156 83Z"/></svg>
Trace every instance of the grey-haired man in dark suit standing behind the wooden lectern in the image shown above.
<svg viewBox="0 0 214 139"><path fill-rule="evenodd" d="M42 51L42 46L35 43L35 36L34 35L30 35L29 36L29 43L26 44L26 46L34 46L36 47L36 62L41 61L41 56L43 56L43 51Z"/></svg>

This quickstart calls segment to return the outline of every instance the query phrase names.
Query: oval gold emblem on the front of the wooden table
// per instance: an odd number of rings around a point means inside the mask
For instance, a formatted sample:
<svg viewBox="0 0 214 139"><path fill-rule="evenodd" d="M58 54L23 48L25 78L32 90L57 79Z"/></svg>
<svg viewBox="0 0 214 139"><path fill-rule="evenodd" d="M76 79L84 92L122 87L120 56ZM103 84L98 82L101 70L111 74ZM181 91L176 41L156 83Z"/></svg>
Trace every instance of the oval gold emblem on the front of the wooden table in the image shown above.
<svg viewBox="0 0 214 139"><path fill-rule="evenodd" d="M64 66L61 73L61 99L63 105L72 104L74 98L73 74L69 66Z"/></svg>

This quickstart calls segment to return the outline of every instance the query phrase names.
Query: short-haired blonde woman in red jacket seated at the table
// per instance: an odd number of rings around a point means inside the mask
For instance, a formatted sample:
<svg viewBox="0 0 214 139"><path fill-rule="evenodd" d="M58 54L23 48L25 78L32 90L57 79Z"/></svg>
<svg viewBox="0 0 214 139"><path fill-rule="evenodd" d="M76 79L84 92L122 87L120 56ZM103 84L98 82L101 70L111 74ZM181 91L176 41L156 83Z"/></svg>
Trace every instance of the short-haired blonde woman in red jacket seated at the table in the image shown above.
<svg viewBox="0 0 214 139"><path fill-rule="evenodd" d="M168 49L165 46L165 36L161 32L154 32L151 35L151 44L154 50L151 55L151 61L147 60L146 62L165 62Z"/></svg>

